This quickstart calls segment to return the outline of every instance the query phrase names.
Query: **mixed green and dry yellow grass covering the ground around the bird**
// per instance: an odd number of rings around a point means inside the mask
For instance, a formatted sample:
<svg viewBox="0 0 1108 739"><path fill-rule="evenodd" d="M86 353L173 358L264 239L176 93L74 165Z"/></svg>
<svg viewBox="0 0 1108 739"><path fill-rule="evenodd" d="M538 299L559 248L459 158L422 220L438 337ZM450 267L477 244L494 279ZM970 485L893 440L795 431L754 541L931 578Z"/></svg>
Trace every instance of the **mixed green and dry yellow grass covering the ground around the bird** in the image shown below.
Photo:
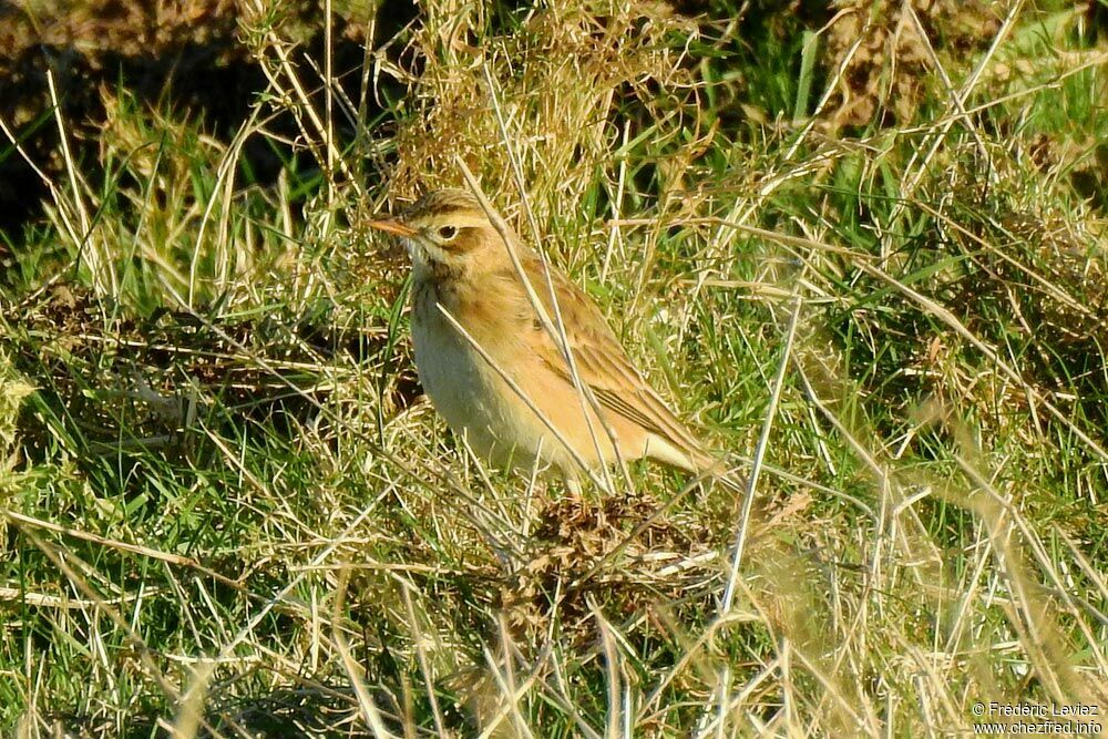
<svg viewBox="0 0 1108 739"><path fill-rule="evenodd" d="M229 140L103 91L6 246L7 733L1102 726L1098 16L725 6L431 2L330 101L258 8ZM361 224L454 154L749 509L649 465L573 501L449 434Z"/></svg>

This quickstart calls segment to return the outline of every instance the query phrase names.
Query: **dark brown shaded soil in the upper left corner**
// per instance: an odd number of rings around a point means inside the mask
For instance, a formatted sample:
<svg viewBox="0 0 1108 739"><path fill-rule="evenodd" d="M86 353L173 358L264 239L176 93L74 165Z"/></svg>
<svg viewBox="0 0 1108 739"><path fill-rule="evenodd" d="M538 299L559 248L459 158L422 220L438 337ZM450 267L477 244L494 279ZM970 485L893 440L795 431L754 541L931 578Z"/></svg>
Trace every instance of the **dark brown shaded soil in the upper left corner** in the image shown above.
<svg viewBox="0 0 1108 739"><path fill-rule="evenodd" d="M413 13L408 3L387 4L377 11L378 35L396 32ZM356 18L359 8L340 0L335 8L332 60L341 73L363 60L365 25ZM48 176L63 166L53 99L74 158L89 167L82 170L86 176L96 166L102 90L125 89L137 104L186 111L208 135L229 141L266 89L250 45L260 21L248 12L248 3L237 0L0 0L0 121ZM322 49L321 3L283 2L280 13L265 21L279 23L283 38L321 59L316 53ZM295 137L290 120L278 117L270 130ZM2 141L0 230L13 235L40 212L48 191L24 157ZM263 183L276 178L283 165L265 142L248 147L245 156Z"/></svg>

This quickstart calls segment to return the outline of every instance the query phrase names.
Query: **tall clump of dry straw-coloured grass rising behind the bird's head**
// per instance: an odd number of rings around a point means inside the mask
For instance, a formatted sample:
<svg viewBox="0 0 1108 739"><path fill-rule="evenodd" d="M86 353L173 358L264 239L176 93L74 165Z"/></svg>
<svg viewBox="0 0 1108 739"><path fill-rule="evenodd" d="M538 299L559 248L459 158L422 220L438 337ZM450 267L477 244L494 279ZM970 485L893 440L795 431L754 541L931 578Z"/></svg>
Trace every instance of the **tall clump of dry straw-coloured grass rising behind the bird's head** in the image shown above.
<svg viewBox="0 0 1108 739"><path fill-rule="evenodd" d="M545 204L576 202L611 157L620 135L609 119L615 109L663 119L678 89L691 82L670 34L678 28L695 33L695 24L660 3L619 13L584 6L535 11L497 43L471 45L473 29L484 22L476 8L432 16L413 35L411 53L433 61L408 95L414 110L397 135L394 195L412 197L428 174L442 177L428 184L458 184L451 157L459 154L484 176L486 193L517 201L511 155L490 110L495 99L542 217Z"/></svg>

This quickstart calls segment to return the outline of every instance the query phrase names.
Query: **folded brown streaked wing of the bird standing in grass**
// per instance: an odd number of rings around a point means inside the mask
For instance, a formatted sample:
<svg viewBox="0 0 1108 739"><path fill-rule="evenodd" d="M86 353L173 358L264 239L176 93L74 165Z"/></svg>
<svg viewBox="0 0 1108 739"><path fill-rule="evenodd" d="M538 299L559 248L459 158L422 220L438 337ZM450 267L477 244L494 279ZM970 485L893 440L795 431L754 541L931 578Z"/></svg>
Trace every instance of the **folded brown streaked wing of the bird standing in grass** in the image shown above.
<svg viewBox="0 0 1108 739"><path fill-rule="evenodd" d="M524 260L524 269L556 331L557 319L537 256ZM694 460L702 459L704 450L699 441L677 420L661 397L635 368L599 309L581 288L553 266L550 267L550 274L557 292L557 307L577 367L577 376L593 391L597 402L684 450ZM553 340L543 342L542 353L543 360L554 372L573 383L570 366Z"/></svg>

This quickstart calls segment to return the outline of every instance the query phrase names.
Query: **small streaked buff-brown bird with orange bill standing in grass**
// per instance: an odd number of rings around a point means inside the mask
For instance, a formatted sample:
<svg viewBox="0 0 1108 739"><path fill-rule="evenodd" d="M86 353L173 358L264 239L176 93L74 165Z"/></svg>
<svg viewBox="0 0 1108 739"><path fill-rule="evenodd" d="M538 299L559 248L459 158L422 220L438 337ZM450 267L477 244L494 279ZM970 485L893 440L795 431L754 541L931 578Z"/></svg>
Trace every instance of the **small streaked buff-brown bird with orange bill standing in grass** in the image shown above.
<svg viewBox="0 0 1108 739"><path fill-rule="evenodd" d="M368 225L407 248L417 373L486 462L552 466L574 485L620 460L717 468L596 304L475 195L438 189Z"/></svg>

